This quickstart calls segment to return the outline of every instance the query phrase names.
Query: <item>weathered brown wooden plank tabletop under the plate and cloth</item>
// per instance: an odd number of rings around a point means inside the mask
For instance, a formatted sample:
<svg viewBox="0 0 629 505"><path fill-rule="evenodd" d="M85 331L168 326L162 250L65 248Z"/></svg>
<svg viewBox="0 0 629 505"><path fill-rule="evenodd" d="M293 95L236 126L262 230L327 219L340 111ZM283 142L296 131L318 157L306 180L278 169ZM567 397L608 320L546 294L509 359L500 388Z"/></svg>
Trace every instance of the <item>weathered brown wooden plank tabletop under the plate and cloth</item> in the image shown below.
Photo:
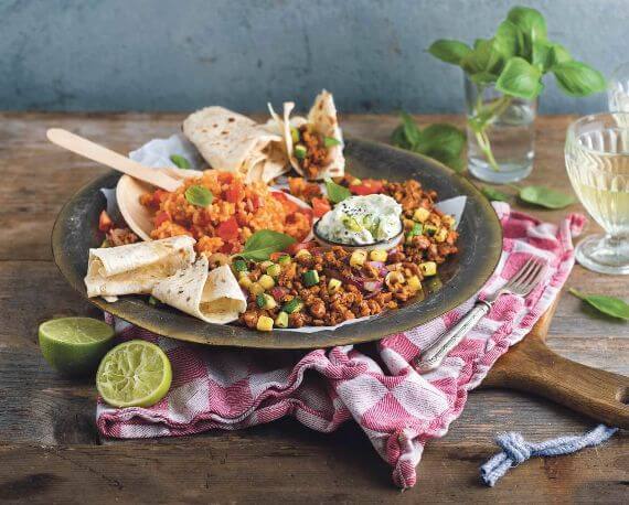
<svg viewBox="0 0 629 505"><path fill-rule="evenodd" d="M58 376L43 361L38 325L56 315L98 313L52 261L50 233L68 196L106 169L50 144L49 127L71 129L120 152L179 128L177 114L0 114L0 501L114 502L568 502L629 501L629 438L598 449L536 459L495 488L478 466L493 436L533 440L580 432L595 422L539 398L475 391L460 419L428 443L415 488L399 493L390 469L352 423L332 434L284 420L237 432L146 441L103 440L90 380ZM458 121L420 117L422 122ZM537 157L529 182L569 191L563 143L571 117L537 120ZM345 131L386 141L393 116L347 116ZM566 212L526 208L558 222ZM594 227L594 226L593 226ZM593 228L590 227L590 229ZM576 267L569 287L629 296L629 278ZM629 324L603 319L564 294L548 344L587 365L629 375Z"/></svg>

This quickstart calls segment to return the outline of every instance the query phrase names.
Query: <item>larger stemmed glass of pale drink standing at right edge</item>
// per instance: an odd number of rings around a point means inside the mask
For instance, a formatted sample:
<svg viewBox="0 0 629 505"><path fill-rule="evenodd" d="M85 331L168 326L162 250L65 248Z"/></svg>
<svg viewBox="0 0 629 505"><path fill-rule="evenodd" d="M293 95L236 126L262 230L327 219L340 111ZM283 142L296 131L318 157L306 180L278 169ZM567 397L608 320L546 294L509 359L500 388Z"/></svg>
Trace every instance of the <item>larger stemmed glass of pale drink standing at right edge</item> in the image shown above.
<svg viewBox="0 0 629 505"><path fill-rule="evenodd" d="M577 119L565 158L577 196L605 230L578 244L577 261L601 273L629 273L629 112Z"/></svg>

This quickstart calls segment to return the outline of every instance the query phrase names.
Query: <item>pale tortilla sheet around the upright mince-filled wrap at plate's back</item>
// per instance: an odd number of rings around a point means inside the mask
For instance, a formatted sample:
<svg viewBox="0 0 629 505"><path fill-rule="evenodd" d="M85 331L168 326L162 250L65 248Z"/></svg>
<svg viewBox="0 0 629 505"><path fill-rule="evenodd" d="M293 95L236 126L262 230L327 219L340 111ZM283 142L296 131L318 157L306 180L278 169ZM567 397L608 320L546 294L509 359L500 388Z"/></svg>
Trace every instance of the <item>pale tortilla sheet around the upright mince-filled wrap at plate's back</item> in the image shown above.
<svg viewBox="0 0 629 505"><path fill-rule="evenodd" d="M337 178L343 175L345 172L345 158L343 155L343 133L339 127L337 117L337 107L334 106L334 98L332 94L323 89L314 99L312 108L308 112L308 118L296 116L290 118L290 112L295 108L295 103L286 101L284 104L284 114L280 118L268 104L268 109L271 118L276 122L275 130L279 130L284 138L284 144L288 154L288 160L292 168L301 175L303 171L299 165L299 161L295 158L295 146L292 146L292 136L290 127L299 128L303 125L311 125L312 129L323 137L330 137L341 142L339 146L328 148L328 162L317 175L317 180L326 178Z"/></svg>

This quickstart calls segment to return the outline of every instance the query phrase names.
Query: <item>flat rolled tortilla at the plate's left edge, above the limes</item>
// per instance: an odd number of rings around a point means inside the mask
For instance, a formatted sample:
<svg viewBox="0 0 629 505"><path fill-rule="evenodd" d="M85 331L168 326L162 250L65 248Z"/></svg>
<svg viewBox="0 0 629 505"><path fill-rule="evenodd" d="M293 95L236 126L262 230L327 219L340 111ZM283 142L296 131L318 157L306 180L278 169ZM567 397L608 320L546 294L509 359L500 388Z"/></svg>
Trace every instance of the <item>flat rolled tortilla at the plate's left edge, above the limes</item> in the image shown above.
<svg viewBox="0 0 629 505"><path fill-rule="evenodd" d="M87 296L150 293L154 284L194 261L195 240L182 235L127 246L89 249Z"/></svg>

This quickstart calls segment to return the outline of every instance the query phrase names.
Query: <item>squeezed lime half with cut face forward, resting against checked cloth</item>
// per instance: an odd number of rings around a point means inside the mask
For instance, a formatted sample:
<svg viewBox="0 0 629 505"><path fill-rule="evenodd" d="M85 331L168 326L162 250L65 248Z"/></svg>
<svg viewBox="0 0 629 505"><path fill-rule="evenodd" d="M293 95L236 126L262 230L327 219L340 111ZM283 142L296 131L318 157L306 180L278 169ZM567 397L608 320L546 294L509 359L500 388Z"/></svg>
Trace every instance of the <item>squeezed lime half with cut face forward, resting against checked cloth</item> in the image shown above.
<svg viewBox="0 0 629 505"><path fill-rule="evenodd" d="M168 356L146 341L129 341L109 351L96 373L96 387L114 407L150 407L172 382Z"/></svg>

